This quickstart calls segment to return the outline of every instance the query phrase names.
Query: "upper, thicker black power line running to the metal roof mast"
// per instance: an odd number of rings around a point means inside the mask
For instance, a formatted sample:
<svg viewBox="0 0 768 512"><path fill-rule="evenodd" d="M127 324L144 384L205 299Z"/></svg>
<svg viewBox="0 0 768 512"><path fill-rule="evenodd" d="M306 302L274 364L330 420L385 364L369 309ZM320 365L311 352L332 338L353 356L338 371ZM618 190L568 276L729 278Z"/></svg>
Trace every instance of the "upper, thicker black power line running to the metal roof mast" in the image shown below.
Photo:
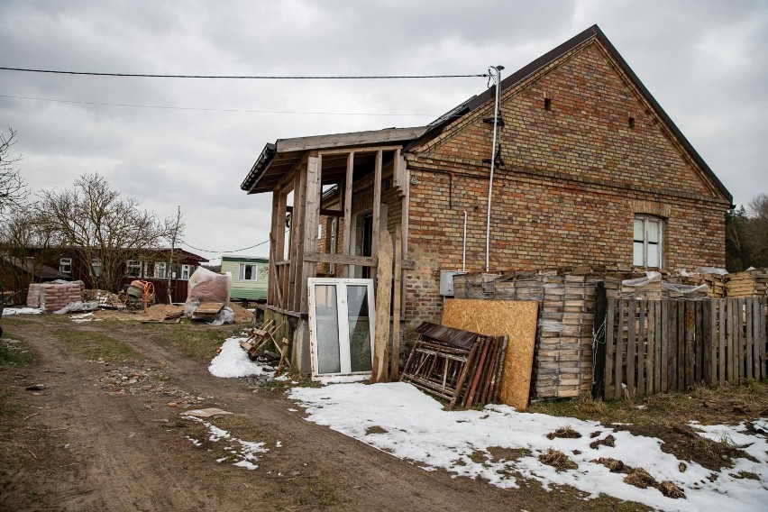
<svg viewBox="0 0 768 512"><path fill-rule="evenodd" d="M155 75L149 73L96 73L92 71L62 71L56 69L26 69L4 68L5 71L23 71L26 73L50 73L54 75L79 75L88 77L132 77L132 78L224 78L234 80L392 80L404 78L486 78L487 74L480 75L327 75L327 76L295 76L288 75Z"/></svg>

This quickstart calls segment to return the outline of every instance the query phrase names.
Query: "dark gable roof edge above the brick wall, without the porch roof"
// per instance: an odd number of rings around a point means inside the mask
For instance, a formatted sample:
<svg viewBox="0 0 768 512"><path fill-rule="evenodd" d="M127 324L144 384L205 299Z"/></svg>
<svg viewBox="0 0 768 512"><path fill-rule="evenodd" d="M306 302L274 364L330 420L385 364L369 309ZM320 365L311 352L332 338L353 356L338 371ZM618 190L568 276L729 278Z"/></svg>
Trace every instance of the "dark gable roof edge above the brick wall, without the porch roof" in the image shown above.
<svg viewBox="0 0 768 512"><path fill-rule="evenodd" d="M655 113L659 115L663 123L666 124L675 138L677 138L677 140L681 143L685 151L689 153L691 159L693 159L699 166L699 169L701 169L707 175L707 178L712 181L715 187L718 188L718 191L728 200L728 202L731 204L731 207L735 207L733 205L733 196L727 190L726 186L723 185L723 183L715 175L712 169L709 168L707 162L701 158L699 153L693 148L688 139L685 138L685 135L682 134L680 128L678 128L677 125L672 122L672 118L666 112L664 112L662 105L659 105L654 96L643 85L643 82L640 81L640 78L637 78L635 72L629 67L629 65L626 63L626 60L618 53L616 47L614 47L614 45L608 41L608 37L606 37L606 35L599 29L597 24L592 25L587 30L573 36L570 40L563 42L556 48L553 48L553 50L547 51L538 59L532 60L526 64L526 66L517 69L517 71L509 75L507 78L501 80L501 92L503 93L509 88L517 87L519 83L533 75L539 69L545 68L551 62L553 62L553 60L560 59L569 51L574 50L584 42L590 41L590 39L593 38L600 41L605 49L608 50L608 53L610 53L610 56L616 60L621 70L626 74L626 77L632 81L632 84L637 88L638 91L640 91L640 94L643 95L648 104L653 107ZM434 120L434 122L429 123L429 129L424 133L424 135L419 140L415 140L408 144L405 149L407 150L409 148L413 148L416 145L425 142L426 140L430 140L436 137L442 133L449 124L453 123L457 119L462 118L466 114L471 114L472 112L478 110L481 106L486 105L489 101L493 101L495 94L495 87L490 87L479 95L471 96L461 105L457 105L452 110Z"/></svg>

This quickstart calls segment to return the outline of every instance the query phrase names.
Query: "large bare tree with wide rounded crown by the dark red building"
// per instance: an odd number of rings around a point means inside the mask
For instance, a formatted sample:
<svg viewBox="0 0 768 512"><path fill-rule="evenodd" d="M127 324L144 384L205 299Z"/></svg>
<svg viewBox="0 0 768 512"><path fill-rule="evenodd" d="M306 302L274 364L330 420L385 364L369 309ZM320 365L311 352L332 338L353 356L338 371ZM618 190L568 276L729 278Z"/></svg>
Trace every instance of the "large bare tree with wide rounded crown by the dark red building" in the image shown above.
<svg viewBox="0 0 768 512"><path fill-rule="evenodd" d="M159 219L96 173L82 175L72 189L44 190L41 199L44 222L73 249L95 288L120 288L127 261L141 259L162 240Z"/></svg>

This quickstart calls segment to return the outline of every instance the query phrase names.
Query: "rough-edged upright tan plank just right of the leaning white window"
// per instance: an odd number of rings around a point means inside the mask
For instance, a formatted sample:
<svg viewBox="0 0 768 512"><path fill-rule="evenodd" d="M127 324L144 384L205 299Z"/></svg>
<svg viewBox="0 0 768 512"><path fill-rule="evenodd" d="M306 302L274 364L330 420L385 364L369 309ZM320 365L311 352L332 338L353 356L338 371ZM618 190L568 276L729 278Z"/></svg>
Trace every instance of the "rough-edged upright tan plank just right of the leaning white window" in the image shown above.
<svg viewBox="0 0 768 512"><path fill-rule="evenodd" d="M389 377L389 306L392 298L392 236L382 231L379 236L379 265L376 268L376 320L373 340L371 382L384 382Z"/></svg>

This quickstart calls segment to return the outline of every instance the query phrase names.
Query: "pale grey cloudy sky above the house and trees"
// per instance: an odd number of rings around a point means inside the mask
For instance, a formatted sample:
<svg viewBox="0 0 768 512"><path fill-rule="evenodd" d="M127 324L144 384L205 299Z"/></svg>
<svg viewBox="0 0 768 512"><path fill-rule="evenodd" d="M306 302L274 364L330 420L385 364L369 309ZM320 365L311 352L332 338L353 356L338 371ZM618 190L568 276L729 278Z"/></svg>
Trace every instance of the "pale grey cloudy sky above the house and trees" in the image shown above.
<svg viewBox="0 0 768 512"><path fill-rule="evenodd" d="M737 205L768 193L764 1L2 0L0 66L350 76L480 74L502 64L511 73L594 23ZM0 127L18 132L14 151L32 190L98 172L160 216L181 206L187 248L215 259L269 237L270 197L240 190L266 142L422 125L485 88L484 78L0 70Z"/></svg>

